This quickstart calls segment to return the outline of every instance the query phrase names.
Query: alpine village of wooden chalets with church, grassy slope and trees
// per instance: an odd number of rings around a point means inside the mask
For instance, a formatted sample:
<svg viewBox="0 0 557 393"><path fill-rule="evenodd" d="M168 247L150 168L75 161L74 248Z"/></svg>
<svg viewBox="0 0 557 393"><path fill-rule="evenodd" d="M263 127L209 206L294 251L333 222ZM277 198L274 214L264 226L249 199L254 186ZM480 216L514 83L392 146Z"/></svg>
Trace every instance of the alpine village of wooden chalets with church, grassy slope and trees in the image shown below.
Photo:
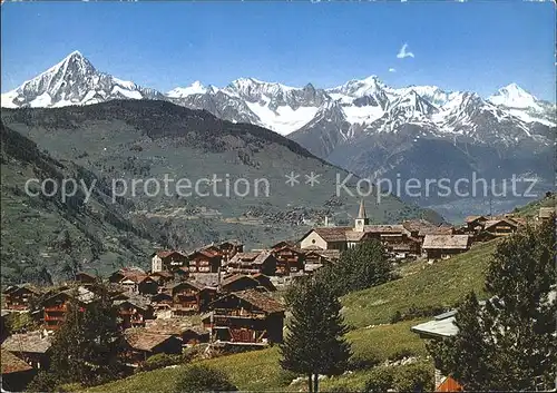
<svg viewBox="0 0 557 393"><path fill-rule="evenodd" d="M549 268L551 263L540 263L553 261L547 252L554 249L554 206L555 196L548 193L514 213L470 216L460 226L424 219L377 225L370 223L362 199L353 225L335 226L325 218L323 226L301 238L265 249L244 249L234 239L192 250L155 249L146 266L127 266L108 276L75 272L74 279L55 286L4 286L2 387L452 392L489 386L478 379L501 386L510 370L500 374L481 369L492 358L478 358L475 345L486 354L492 348L481 344L485 332L470 315L482 315L486 320L479 321L487 323L487 304L505 296L494 274L517 268L508 258L538 258L520 274ZM532 291L540 302L540 292L549 293L551 306L528 303L538 313L555 312L555 271L546 284ZM325 289L328 285L332 288ZM329 292L330 304L321 306L326 299L320 296L326 298L322 294ZM504 302L514 299L510 295ZM304 302L321 315L305 316ZM507 317L504 310L498 312ZM517 318L528 320L529 312ZM466 318L459 320L460 313ZM334 325L331 321L338 323L336 334L321 337ZM551 321L546 323L555 328ZM554 386L556 363L547 357L555 360L555 333L549 338L551 343L541 345L554 352L539 357L526 374L512 371L512 383L537 391ZM95 341L96 350L92 345L89 351L105 351L100 364L90 352L68 347L91 345L75 340ZM531 351L536 356L536 348ZM79 354L85 357L76 358ZM309 358L301 360L304 356ZM467 364L466 356L473 362ZM68 360L89 366L90 375L84 372L74 383L60 384L52 375L63 374L56 367L69 370ZM460 361L467 365L456 366ZM203 367L214 375L203 374ZM187 379L189 387L175 387L188 370L201 373L198 380L212 380L213 387L196 387L197 382ZM529 374L531 370L537 373Z"/></svg>

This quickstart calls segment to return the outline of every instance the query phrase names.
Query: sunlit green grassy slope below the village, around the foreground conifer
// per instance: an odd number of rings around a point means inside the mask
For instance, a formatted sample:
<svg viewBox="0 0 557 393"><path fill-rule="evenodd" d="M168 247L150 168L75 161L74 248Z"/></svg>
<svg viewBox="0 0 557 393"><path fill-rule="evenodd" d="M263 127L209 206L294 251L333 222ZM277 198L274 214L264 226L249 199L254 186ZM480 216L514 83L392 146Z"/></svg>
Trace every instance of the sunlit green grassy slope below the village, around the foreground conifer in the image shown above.
<svg viewBox="0 0 557 393"><path fill-rule="evenodd" d="M352 373L322 382L322 390L361 390L369 367L387 360L420 356L426 360L424 343L410 327L428 317L389 324L395 311L404 313L418 307L450 307L470 289L483 294L483 272L496 242L472 247L466 254L433 265L412 264L403 268L404 276L395 282L344 296L345 321L355 327L348 333L354 353ZM225 371L232 381L246 391L299 391L304 382L291 385L295 375L278 365L278 350L228 355L203 361ZM355 365L360 365L356 367ZM126 380L91 389L91 392L172 392L184 366L139 373Z"/></svg>

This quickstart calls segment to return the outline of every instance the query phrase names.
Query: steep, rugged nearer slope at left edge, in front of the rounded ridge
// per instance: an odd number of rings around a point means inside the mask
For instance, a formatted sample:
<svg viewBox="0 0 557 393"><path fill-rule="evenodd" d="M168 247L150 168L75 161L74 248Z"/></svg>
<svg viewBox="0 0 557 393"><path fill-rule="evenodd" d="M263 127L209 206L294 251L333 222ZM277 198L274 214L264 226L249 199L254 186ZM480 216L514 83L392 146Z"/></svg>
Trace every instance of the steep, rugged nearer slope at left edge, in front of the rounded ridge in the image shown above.
<svg viewBox="0 0 557 393"><path fill-rule="evenodd" d="M51 284L82 268L106 273L148 259L154 233L129 220L131 200L113 202L109 183L80 165L53 158L3 122L0 137L2 283ZM37 196L30 197L26 187L33 178L29 189ZM75 193L62 198L63 184L76 178L81 181ZM40 191L41 184L48 185L48 193Z"/></svg>

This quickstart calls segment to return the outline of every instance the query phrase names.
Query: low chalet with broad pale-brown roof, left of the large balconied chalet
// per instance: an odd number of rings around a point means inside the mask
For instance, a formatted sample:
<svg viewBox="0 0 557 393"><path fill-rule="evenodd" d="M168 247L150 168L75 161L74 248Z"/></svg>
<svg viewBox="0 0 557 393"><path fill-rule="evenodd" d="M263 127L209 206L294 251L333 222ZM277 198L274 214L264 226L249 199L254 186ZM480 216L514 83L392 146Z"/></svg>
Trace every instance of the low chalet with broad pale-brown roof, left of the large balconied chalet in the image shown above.
<svg viewBox="0 0 557 393"><path fill-rule="evenodd" d="M175 317L149 321L145 331L175 336L182 341L183 346L208 343L211 335L205 327L194 326L185 318Z"/></svg>

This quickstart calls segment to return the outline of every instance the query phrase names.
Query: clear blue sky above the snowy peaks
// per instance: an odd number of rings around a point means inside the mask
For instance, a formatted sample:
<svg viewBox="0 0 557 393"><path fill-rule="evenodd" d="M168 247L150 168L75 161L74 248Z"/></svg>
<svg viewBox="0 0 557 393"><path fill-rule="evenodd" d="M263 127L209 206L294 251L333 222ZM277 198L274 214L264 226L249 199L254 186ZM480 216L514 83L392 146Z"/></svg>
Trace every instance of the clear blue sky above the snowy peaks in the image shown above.
<svg viewBox="0 0 557 393"><path fill-rule="evenodd" d="M1 90L79 50L98 70L162 91L238 77L332 87L378 75L394 87L482 96L517 82L555 100L554 10L473 0L3 3ZM403 43L413 57L397 57Z"/></svg>

